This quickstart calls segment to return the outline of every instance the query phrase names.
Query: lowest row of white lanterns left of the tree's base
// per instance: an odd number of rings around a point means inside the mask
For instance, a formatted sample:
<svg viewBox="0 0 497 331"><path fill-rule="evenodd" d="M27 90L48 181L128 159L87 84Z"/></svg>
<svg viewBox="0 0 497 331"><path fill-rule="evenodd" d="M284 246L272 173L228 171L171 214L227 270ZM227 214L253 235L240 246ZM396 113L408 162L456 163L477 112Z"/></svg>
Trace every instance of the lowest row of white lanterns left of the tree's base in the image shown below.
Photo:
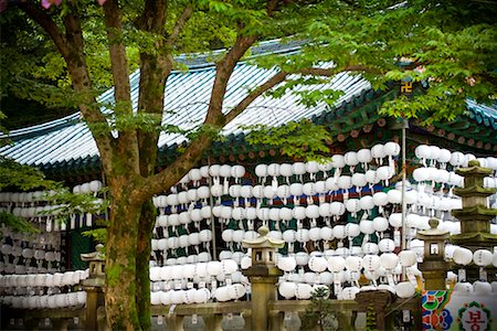
<svg viewBox="0 0 497 331"><path fill-rule="evenodd" d="M1 303L15 309L57 309L83 307L86 303L86 292L77 291L44 296L4 296Z"/></svg>

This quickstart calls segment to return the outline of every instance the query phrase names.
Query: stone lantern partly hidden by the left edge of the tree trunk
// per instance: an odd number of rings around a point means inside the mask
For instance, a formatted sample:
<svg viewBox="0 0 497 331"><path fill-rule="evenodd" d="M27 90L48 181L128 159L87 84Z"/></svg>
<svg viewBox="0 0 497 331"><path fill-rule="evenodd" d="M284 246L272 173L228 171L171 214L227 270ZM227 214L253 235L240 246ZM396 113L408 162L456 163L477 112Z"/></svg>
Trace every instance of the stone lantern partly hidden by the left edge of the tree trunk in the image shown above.
<svg viewBox="0 0 497 331"><path fill-rule="evenodd" d="M82 281L86 291L86 329L99 330L97 311L98 307L104 307L105 286L105 255L104 246L97 245L96 252L81 254L81 259L89 264L89 277Z"/></svg>

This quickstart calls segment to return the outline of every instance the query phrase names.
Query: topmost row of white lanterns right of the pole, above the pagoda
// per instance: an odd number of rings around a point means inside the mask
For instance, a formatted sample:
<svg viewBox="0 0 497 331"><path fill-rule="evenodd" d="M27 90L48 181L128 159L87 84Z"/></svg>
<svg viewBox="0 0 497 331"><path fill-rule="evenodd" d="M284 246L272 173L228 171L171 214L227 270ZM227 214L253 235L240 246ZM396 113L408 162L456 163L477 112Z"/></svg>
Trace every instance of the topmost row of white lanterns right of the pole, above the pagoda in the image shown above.
<svg viewBox="0 0 497 331"><path fill-rule="evenodd" d="M478 160L482 167L497 170L497 158L494 157L476 158L472 153L463 153L459 151L451 152L445 148L440 148L433 145L420 145L414 150L414 153L424 167L440 166L442 169L446 169L446 166L451 164L456 169L459 167L467 167L470 160Z"/></svg>

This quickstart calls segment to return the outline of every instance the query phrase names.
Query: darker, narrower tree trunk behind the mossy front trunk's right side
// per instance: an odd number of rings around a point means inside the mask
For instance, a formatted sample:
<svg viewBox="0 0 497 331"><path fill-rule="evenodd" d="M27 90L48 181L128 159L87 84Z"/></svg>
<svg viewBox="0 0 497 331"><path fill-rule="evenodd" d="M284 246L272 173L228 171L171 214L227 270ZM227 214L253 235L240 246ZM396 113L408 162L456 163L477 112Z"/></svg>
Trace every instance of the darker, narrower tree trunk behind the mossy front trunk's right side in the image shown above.
<svg viewBox="0 0 497 331"><path fill-rule="evenodd" d="M138 242L136 250L136 307L138 320L142 330L150 330L150 278L149 261L151 237L156 221L156 209L151 201L141 206L140 223L138 225Z"/></svg>

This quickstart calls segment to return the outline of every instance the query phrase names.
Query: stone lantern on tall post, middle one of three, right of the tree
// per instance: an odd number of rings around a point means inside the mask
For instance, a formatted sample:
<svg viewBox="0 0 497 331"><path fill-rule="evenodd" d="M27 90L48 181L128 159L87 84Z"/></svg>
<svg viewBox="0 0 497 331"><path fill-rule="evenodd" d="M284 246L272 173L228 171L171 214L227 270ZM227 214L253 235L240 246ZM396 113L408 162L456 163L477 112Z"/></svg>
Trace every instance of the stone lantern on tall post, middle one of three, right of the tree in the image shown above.
<svg viewBox="0 0 497 331"><path fill-rule="evenodd" d="M276 300L276 282L282 270L276 267L276 252L285 245L284 241L267 236L266 226L258 228L260 237L244 239L244 248L252 249L252 266L243 271L252 285L252 330L269 330L269 302Z"/></svg>

